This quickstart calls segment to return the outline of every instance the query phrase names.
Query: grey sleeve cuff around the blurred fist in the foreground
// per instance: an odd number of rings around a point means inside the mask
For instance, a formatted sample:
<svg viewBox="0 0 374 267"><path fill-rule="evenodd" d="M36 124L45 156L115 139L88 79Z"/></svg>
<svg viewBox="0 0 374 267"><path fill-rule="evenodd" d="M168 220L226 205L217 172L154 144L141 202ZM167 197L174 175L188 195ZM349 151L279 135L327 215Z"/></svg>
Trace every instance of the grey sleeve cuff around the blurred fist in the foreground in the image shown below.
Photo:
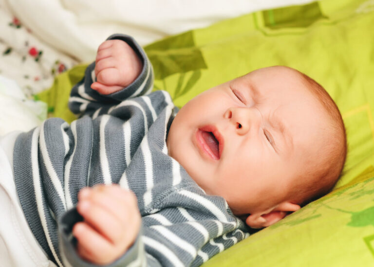
<svg viewBox="0 0 374 267"><path fill-rule="evenodd" d="M98 265L89 263L76 253L75 245L76 239L73 236L73 226L75 223L83 221L83 217L78 214L76 208L73 208L66 212L58 224L58 235L60 243L60 251L62 256L62 261L64 266L71 267L99 267ZM141 231L139 231L138 236L134 244L124 253L120 258L115 260L112 264L107 265L107 267L121 267L128 266L134 261L138 261L141 265L144 257L144 246L141 242Z"/></svg>

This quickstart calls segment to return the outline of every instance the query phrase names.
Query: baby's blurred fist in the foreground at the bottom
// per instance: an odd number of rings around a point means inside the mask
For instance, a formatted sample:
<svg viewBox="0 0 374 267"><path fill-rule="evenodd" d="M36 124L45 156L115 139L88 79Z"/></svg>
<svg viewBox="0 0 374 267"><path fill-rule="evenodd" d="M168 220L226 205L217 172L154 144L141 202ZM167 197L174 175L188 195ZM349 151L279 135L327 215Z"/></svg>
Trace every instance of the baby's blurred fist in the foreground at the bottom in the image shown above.
<svg viewBox="0 0 374 267"><path fill-rule="evenodd" d="M137 199L118 185L83 188L77 211L84 218L73 227L80 257L97 265L108 265L134 243L141 225Z"/></svg>

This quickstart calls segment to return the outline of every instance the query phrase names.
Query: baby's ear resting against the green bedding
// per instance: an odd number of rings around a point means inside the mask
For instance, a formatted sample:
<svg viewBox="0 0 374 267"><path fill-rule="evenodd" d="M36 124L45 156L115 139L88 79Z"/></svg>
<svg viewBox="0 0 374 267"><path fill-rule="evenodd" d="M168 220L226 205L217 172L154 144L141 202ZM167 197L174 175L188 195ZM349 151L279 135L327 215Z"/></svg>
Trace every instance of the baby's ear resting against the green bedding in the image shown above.
<svg viewBox="0 0 374 267"><path fill-rule="evenodd" d="M283 219L288 212L296 212L300 209L298 204L284 201L281 204L264 212L250 214L245 223L254 229L268 227Z"/></svg>

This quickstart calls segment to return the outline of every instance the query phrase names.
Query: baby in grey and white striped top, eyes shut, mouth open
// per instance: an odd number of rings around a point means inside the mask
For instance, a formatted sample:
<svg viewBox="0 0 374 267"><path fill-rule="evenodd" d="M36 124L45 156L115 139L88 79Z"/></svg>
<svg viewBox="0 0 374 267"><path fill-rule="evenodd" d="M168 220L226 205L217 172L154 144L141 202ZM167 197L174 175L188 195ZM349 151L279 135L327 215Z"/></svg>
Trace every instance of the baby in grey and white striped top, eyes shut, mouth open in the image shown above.
<svg viewBox="0 0 374 267"><path fill-rule="evenodd" d="M72 90L85 116L17 137L19 201L51 264L199 266L336 183L344 125L308 76L252 71L175 115L152 75L131 37L111 36Z"/></svg>

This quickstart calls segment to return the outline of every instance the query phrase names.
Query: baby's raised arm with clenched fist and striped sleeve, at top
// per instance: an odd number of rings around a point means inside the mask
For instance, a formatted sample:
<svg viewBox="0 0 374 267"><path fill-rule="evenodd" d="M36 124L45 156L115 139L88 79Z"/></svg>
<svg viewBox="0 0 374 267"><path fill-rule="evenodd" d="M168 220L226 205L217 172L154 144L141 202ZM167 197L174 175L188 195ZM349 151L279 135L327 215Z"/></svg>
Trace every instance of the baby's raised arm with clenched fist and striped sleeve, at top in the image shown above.
<svg viewBox="0 0 374 267"><path fill-rule="evenodd" d="M72 89L69 108L79 116L111 114L122 101L148 93L152 85L152 67L143 49L130 36L113 35L99 46L95 62Z"/></svg>

